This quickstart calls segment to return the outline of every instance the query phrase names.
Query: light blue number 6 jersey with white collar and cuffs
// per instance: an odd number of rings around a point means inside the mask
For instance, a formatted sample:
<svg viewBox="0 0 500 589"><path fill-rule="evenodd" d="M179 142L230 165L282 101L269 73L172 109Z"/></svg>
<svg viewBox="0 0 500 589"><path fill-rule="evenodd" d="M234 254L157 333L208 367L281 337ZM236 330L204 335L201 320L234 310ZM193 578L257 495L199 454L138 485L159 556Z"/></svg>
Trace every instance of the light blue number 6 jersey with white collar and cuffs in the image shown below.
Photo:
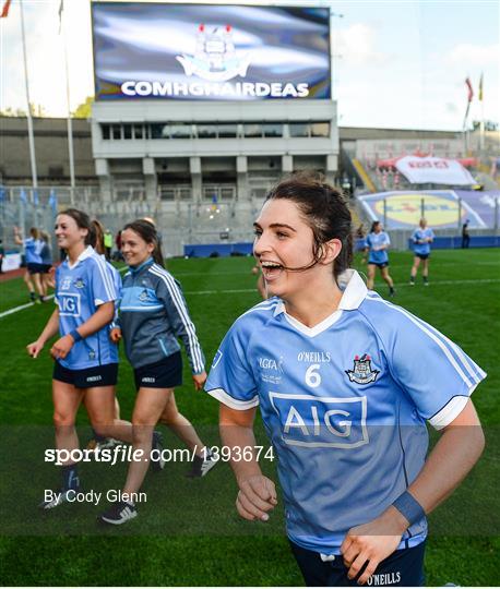
<svg viewBox="0 0 500 589"><path fill-rule="evenodd" d="M326 554L408 488L426 458L426 421L448 425L486 376L437 329L368 291L356 272L342 278L338 310L312 328L278 298L241 315L205 385L234 409L260 405L287 533ZM422 519L400 548L426 533Z"/></svg>

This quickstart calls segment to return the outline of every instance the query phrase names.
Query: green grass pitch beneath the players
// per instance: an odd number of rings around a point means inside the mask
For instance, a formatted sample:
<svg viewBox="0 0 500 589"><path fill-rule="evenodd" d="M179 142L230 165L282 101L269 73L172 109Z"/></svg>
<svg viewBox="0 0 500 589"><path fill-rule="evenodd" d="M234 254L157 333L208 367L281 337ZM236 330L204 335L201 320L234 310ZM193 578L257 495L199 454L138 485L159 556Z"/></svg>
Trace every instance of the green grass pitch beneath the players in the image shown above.
<svg viewBox="0 0 500 589"><path fill-rule="evenodd" d="M487 449L461 489L430 517L426 560L428 585L492 586L499 584L499 425L500 389L500 251L434 251L430 286L420 277L408 286L412 255L391 254L397 304L414 312L456 341L488 372L474 394L485 426ZM247 257L171 260L207 357L233 321L259 302L255 277ZM357 267L364 266L357 262ZM365 267L366 268L366 267ZM378 277L377 290L386 296ZM21 278L0 284L0 313L27 302ZM0 317L0 531L1 584L14 586L295 586L301 576L284 534L283 503L265 524L238 518L236 483L227 464L202 480L183 477L188 465L169 462L148 474L147 503L140 516L119 529L100 528L103 504L60 507L39 514L41 490L58 482L57 470L44 464L53 447L51 361L46 350L32 360L25 346L34 340L52 303L34 305ZM187 364L187 362L184 362ZM218 444L217 404L195 393L184 371L177 393L180 410L209 444ZM134 400L132 373L120 364L118 396L130 418ZM170 447L180 443L160 428ZM86 416L79 414L81 442L88 435ZM259 441L266 440L258 426ZM274 464L264 461L274 476ZM85 489L119 489L124 466L82 465Z"/></svg>

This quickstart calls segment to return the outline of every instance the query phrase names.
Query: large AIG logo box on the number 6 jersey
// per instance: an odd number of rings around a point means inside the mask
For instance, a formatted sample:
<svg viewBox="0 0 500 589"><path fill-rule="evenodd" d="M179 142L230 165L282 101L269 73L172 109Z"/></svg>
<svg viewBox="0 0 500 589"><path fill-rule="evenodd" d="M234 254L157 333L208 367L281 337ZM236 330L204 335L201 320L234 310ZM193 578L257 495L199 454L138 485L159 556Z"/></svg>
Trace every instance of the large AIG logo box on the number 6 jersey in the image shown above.
<svg viewBox="0 0 500 589"><path fill-rule="evenodd" d="M366 397L314 397L271 393L282 424L282 440L290 446L357 448L368 444Z"/></svg>

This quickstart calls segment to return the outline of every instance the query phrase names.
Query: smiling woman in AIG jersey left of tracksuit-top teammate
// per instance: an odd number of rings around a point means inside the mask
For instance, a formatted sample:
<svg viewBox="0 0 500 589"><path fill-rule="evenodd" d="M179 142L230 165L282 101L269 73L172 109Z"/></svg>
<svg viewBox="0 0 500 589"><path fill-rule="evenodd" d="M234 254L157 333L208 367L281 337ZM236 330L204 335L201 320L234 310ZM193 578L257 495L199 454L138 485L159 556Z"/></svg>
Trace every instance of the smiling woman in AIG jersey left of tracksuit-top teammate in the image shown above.
<svg viewBox="0 0 500 589"><path fill-rule="evenodd" d="M109 338L117 292L106 263L91 245L91 219L69 208L57 216L56 238L67 257L56 271L57 308L38 339L27 346L37 358L45 344L59 332L50 348L56 447L79 448L75 417L82 399L92 426L104 436L132 441L132 426L114 419L118 350ZM51 509L68 501L69 491L80 489L78 467L71 459L62 465L62 484L40 504Z"/></svg>

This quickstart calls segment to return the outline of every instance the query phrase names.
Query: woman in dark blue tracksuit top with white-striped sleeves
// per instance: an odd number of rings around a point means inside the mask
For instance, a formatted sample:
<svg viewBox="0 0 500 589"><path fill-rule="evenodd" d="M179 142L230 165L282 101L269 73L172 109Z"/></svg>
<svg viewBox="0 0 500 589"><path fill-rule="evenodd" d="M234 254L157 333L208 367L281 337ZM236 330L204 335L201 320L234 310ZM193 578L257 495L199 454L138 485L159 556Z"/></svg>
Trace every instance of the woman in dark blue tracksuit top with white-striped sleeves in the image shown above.
<svg viewBox="0 0 500 589"><path fill-rule="evenodd" d="M154 225L139 219L121 232L121 251L129 265L123 276L118 327L114 341L124 340L127 358L134 370L138 397L133 410L133 448L151 456L152 466L162 468L155 453L153 429L160 421L168 425L193 452L190 477L203 477L215 465L191 423L177 410L174 388L182 384L180 338L188 353L194 387L206 380L205 359L189 316L179 283L163 267L163 255ZM153 452L152 452L153 445ZM120 525L138 515L138 496L147 461L132 461L121 493L100 519Z"/></svg>

